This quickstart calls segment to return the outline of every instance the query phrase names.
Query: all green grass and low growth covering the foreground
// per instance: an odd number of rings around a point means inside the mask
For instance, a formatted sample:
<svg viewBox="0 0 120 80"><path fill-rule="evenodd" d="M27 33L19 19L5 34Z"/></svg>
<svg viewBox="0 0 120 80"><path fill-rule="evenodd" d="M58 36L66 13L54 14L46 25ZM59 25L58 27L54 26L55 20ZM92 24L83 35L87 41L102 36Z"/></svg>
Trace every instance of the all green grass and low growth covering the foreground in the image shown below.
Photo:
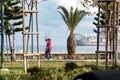
<svg viewBox="0 0 120 80"><path fill-rule="evenodd" d="M9 72L0 72L0 80L73 80L78 74L94 71L96 69L95 62L74 62L78 68L66 71L65 65L68 61L41 61L40 70L34 68L34 75L24 73L23 61L4 62L4 67L9 69ZM101 62L101 70L105 69L104 63ZM29 68L37 66L36 61L29 62ZM72 65L68 67L71 68ZM68 68L67 67L67 68ZM120 69L120 68L119 68ZM35 70L38 70L35 72ZM37 73L37 74L36 74Z"/></svg>

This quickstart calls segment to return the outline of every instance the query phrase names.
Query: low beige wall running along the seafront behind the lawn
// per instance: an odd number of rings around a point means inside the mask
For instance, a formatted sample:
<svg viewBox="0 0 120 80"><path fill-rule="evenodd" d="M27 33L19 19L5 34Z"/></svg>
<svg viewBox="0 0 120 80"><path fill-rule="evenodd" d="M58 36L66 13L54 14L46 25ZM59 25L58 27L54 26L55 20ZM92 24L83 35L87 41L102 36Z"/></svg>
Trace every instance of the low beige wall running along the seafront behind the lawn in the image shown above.
<svg viewBox="0 0 120 80"><path fill-rule="evenodd" d="M44 52L40 53L40 58L44 59ZM67 52L52 52L52 58L53 59L58 59L58 60L62 60L62 59L67 59ZM10 59L10 53L4 53L4 57L5 60L9 60ZM16 60L21 60L23 59L23 53L22 52L16 52L15 53L15 58ZM31 58L31 56L28 56L28 58ZM34 56L34 58L36 58L36 56ZM104 53L100 53L100 59L104 59L105 58L105 54ZM96 59L96 53L94 52L77 52L76 53L76 59L77 60L95 60Z"/></svg>

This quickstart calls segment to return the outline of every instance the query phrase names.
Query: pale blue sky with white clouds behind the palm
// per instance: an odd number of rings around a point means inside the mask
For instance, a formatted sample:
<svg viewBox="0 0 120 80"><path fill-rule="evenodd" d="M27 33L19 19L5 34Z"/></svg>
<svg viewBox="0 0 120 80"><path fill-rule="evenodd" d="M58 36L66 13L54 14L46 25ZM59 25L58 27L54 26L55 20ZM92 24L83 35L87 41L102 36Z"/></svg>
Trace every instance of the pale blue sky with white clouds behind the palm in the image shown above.
<svg viewBox="0 0 120 80"><path fill-rule="evenodd" d="M39 0L38 0L39 1ZM68 10L70 6L74 8L78 7L80 10L90 11L91 13L97 12L96 8L84 8L80 4L80 0L48 0L38 3L38 21L39 21L39 43L45 45L45 38L52 39L53 45L66 45L69 30L64 23L61 15L58 13L58 6L65 6ZM95 25L95 14L85 16L83 20L77 25L75 33L79 34L92 34ZM22 40L19 36L16 37L16 41ZM17 43L21 45L22 43Z"/></svg>

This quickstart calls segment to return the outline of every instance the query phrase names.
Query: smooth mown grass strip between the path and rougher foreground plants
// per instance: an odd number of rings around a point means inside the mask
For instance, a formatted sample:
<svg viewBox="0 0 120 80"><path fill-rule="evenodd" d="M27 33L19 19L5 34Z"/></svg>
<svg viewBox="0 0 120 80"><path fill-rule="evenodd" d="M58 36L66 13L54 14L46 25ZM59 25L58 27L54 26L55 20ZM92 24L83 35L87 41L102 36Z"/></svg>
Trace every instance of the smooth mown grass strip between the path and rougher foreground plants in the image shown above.
<svg viewBox="0 0 120 80"><path fill-rule="evenodd" d="M40 67L65 67L65 63L68 61L64 62L55 62L55 61L41 61L40 62ZM75 62L78 66L84 66L84 65L95 65L95 62ZM31 61L29 62L29 67L34 67L37 66L36 61ZM10 71L13 72L24 72L24 67L23 67L23 62L22 61L17 61L17 62L4 62L4 67L9 69Z"/></svg>

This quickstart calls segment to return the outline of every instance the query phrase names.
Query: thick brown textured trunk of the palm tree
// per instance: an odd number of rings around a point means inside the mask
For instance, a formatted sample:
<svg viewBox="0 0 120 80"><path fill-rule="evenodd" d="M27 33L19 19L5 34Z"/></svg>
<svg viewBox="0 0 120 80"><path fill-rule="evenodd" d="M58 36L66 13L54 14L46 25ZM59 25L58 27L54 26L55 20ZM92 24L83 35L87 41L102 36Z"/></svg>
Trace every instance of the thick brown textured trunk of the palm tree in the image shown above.
<svg viewBox="0 0 120 80"><path fill-rule="evenodd" d="M73 33L67 39L67 51L68 59L76 59L76 39Z"/></svg>

